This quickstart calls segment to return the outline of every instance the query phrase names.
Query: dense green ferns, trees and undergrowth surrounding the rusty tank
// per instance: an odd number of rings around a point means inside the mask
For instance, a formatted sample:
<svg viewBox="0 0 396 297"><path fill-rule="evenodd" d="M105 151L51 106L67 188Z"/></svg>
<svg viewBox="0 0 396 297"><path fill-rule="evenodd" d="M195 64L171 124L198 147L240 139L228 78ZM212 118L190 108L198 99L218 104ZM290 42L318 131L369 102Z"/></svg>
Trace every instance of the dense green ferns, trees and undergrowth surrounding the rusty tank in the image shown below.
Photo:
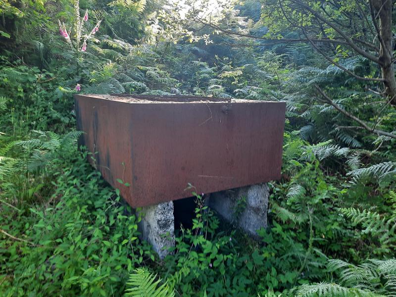
<svg viewBox="0 0 396 297"><path fill-rule="evenodd" d="M394 1L190 2L0 1L0 296L396 296ZM79 93L286 101L261 240L196 195L160 261Z"/></svg>

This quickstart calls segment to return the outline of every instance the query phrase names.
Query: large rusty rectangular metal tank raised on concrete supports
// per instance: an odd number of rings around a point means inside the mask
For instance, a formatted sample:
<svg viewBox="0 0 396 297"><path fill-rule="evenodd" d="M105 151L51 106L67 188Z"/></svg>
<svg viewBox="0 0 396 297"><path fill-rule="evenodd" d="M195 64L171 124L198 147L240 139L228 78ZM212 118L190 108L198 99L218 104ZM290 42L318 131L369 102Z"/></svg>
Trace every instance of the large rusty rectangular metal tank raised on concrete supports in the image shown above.
<svg viewBox="0 0 396 297"><path fill-rule="evenodd" d="M80 144L132 207L280 177L285 103L76 95ZM126 187L124 183L129 183Z"/></svg>

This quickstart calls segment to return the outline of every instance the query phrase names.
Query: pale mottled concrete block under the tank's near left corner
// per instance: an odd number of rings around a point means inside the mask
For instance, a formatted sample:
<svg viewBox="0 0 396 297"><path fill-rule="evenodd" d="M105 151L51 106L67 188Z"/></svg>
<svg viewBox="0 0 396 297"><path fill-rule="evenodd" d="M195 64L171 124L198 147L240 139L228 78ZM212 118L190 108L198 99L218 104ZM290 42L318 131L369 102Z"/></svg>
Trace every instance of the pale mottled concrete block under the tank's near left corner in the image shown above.
<svg viewBox="0 0 396 297"><path fill-rule="evenodd" d="M169 253L167 247L175 246L173 202L142 207L138 214L142 215L142 220L138 224L142 239L150 243L163 259Z"/></svg>

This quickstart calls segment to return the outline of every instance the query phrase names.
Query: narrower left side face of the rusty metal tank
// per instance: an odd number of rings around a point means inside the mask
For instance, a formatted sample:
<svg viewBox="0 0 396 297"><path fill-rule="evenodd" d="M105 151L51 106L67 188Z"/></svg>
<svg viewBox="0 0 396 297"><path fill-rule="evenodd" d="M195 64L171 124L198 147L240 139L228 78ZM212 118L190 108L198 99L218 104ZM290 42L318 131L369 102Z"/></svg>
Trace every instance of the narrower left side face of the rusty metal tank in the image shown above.
<svg viewBox="0 0 396 297"><path fill-rule="evenodd" d="M88 161L132 206L132 186L125 187L117 181L121 179L132 185L131 131L126 126L132 106L88 96L75 98L77 129L84 132L79 147L87 148Z"/></svg>

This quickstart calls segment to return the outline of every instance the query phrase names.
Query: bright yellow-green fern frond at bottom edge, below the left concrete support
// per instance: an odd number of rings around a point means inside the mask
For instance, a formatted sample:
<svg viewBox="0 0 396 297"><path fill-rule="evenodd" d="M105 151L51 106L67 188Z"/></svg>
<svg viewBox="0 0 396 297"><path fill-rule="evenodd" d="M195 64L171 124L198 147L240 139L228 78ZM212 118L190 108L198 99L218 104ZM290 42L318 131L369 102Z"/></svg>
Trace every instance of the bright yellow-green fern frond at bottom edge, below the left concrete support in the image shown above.
<svg viewBox="0 0 396 297"><path fill-rule="evenodd" d="M175 293L169 286L164 283L160 285L161 279L155 281L156 275L148 273L145 269L139 268L135 270L134 274L129 277L129 282L132 288L126 290L126 296L136 297L174 297Z"/></svg>

